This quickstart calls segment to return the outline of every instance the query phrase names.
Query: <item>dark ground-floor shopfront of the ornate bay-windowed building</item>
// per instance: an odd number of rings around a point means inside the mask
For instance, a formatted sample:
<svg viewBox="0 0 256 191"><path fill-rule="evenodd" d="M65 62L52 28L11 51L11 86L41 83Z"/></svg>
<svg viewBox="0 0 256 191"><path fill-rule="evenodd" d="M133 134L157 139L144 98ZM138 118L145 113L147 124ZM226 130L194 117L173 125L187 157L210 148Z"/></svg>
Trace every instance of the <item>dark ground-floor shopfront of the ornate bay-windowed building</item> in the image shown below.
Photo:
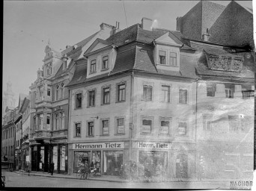
<svg viewBox="0 0 256 191"><path fill-rule="evenodd" d="M55 173L67 173L67 140L37 141L31 147L31 170L49 172L54 163Z"/></svg>

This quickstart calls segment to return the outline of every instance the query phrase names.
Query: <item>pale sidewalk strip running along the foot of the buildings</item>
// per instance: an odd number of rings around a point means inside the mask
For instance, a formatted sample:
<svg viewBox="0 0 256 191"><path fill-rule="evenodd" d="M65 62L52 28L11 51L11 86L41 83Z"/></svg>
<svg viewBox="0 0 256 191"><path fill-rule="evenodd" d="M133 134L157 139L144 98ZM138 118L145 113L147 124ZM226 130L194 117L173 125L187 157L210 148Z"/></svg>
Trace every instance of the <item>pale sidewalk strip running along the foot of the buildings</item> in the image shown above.
<svg viewBox="0 0 256 191"><path fill-rule="evenodd" d="M21 174L21 175L28 175L28 172L24 172L22 170L19 171L13 171L15 173ZM53 173L53 175L51 175L49 172L29 172L29 175L31 176L44 176L44 177L52 177L52 178L69 178L69 179L79 179L79 180L85 180L85 179L81 179L79 174L73 174L73 175L67 175L67 174L56 174ZM101 177L90 177L89 178L90 181L109 181L109 182L129 182L129 180L120 178L118 176L111 176L111 175L102 175ZM178 179L177 178L171 178L170 180L165 180L165 182L177 182ZM183 178L183 182L227 182L230 180L225 180L225 179L203 179L202 181L198 181L196 178ZM134 182L145 182L145 180L143 178L137 178ZM150 181L150 183L156 182L156 180L154 181Z"/></svg>

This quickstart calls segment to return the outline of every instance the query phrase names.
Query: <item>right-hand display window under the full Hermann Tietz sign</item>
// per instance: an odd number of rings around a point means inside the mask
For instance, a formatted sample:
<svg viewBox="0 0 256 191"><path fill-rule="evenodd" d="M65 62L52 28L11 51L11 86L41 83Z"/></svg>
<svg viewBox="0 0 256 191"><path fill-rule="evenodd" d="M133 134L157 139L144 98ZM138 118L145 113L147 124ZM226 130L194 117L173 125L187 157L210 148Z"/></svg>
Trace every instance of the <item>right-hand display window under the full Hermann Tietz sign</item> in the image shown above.
<svg viewBox="0 0 256 191"><path fill-rule="evenodd" d="M103 172L106 175L120 175L124 151L104 151Z"/></svg>

